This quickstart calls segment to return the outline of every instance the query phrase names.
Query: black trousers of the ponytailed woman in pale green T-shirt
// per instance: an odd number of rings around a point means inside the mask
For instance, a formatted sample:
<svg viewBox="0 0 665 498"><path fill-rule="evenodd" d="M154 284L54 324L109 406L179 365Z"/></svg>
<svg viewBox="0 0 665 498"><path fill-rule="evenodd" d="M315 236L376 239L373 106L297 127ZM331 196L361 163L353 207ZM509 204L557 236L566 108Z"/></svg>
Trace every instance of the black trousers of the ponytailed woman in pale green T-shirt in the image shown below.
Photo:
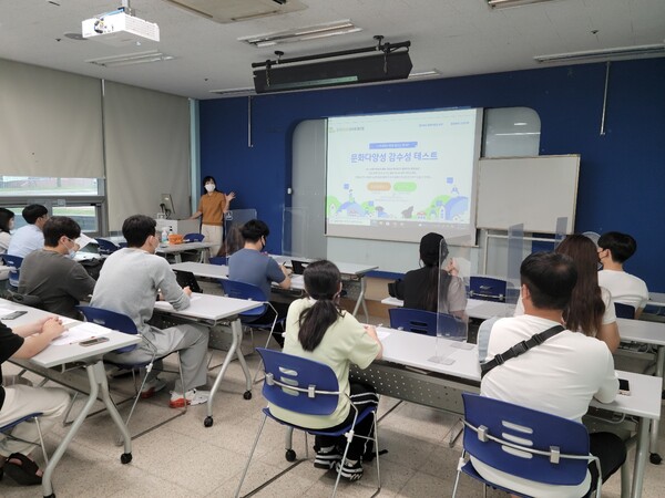
<svg viewBox="0 0 665 498"><path fill-rule="evenodd" d="M351 403L358 408L358 412L362 412L362 409L367 408L367 406L377 406L379 404L379 396L377 396L374 386L369 384L352 382L349 387ZM349 415L347 416L346 421L344 421L341 424L336 425L335 427L330 427L329 430L338 430L350 425L354 422L355 414L356 411L354 408L350 408ZM347 458L349 460L359 460L362 457L362 455L372 452L374 446L371 444L371 440L365 439L365 437L372 436L372 427L374 417L371 415L367 416L364 421L356 424L355 437L351 440L349 452L347 454ZM315 448L317 450L319 448L327 448L330 446L336 446L339 449L339 452L342 453L344 448L346 447L346 438L344 436L316 436Z"/></svg>

